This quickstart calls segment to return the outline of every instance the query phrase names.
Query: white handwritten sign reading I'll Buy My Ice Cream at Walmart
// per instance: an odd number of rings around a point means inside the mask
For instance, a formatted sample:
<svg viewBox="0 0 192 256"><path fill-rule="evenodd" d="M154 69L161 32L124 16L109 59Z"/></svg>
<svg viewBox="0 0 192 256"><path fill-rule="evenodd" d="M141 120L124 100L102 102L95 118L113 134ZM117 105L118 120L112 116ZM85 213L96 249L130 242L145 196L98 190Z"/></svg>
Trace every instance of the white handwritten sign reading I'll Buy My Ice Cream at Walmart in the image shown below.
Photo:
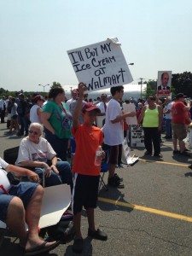
<svg viewBox="0 0 192 256"><path fill-rule="evenodd" d="M120 44L114 39L67 50L74 72L79 82L87 85L87 90L102 90L132 82Z"/></svg>

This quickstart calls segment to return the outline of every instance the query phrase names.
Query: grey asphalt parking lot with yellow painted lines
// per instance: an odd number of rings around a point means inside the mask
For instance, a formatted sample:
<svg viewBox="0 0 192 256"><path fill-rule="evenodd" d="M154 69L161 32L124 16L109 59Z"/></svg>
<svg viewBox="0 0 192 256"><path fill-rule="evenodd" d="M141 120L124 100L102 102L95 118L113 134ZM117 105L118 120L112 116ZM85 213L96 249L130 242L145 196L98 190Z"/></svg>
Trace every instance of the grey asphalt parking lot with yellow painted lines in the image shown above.
<svg viewBox="0 0 192 256"><path fill-rule="evenodd" d="M20 137L4 135L0 124L0 155L20 143ZM117 169L125 189L101 189L96 224L108 233L108 241L87 237L83 212L84 252L80 255L192 255L191 157L172 155L172 141L161 146L162 159L143 157L143 148L132 148L140 159L135 166ZM104 180L107 182L107 175ZM61 244L50 256L76 255L73 241ZM17 242L5 237L0 255L22 255Z"/></svg>

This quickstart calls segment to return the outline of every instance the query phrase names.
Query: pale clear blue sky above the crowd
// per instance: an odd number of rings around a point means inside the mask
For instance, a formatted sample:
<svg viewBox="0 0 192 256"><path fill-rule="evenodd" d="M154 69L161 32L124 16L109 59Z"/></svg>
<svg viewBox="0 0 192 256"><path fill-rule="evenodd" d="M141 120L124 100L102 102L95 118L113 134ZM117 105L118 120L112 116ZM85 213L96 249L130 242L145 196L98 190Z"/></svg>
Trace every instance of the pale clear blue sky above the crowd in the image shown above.
<svg viewBox="0 0 192 256"><path fill-rule="evenodd" d="M0 0L0 87L78 84L67 49L113 37L136 83L191 72L192 1Z"/></svg>

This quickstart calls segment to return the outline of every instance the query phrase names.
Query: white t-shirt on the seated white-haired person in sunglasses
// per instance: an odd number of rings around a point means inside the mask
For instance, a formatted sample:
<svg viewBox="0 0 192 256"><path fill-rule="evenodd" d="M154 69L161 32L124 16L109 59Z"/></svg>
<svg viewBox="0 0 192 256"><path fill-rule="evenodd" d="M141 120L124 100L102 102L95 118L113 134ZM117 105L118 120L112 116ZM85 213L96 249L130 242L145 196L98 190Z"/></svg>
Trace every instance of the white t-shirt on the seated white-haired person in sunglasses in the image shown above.
<svg viewBox="0 0 192 256"><path fill-rule="evenodd" d="M19 166L20 162L25 160L33 160L40 162L47 162L56 155L54 149L50 146L48 141L44 137L39 138L39 143L32 143L29 137L25 137L20 142L20 149L16 165Z"/></svg>

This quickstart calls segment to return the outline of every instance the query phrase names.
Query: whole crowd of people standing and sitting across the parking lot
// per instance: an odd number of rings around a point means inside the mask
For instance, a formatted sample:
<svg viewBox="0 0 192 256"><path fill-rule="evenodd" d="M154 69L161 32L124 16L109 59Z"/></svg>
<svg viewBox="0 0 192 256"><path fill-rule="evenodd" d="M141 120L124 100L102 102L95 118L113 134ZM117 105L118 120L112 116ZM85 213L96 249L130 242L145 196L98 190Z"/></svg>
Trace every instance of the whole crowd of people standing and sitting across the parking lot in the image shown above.
<svg viewBox="0 0 192 256"><path fill-rule="evenodd" d="M20 173L35 182L41 181L45 186L61 183L70 185L76 232L73 242L75 253L83 250L80 229L83 207L88 216L88 236L102 241L108 239L105 232L96 229L94 220L101 171L101 165L95 164L97 149L102 146L108 154L108 186L122 189L123 178L119 177L116 168L122 166L122 143L125 137L129 137L129 124L125 121L127 117L137 117L138 125L143 126L144 154L158 158L162 157L160 143L163 129L165 138L172 139L173 154L189 155L183 139L187 137L188 125L191 123L191 103L185 102L183 93L177 94L174 99L148 96L146 100L137 102L126 100L125 104L135 103L135 111L127 113L123 108L123 86L112 87L110 96L102 94L96 101L88 100L85 91L85 84L80 83L77 89L72 90L69 100L60 86L49 90L47 100L40 95L34 95L31 100L25 99L22 93L18 97L9 96L8 99L3 97L0 100L1 122L4 122L7 114L8 135L15 132L17 136L24 136L20 142L16 166L0 159L0 175L4 174L4 169ZM104 117L102 127L96 125L97 116ZM72 138L75 154L71 168L67 160ZM101 158L106 158L104 151ZM17 192L18 186L21 192ZM39 247L48 251L56 246L55 241L41 241L37 231L34 231L38 225L42 191L40 185L29 182L0 189L0 205L4 209L0 213L0 220L17 231L20 246L25 247L26 253L38 253ZM36 207L31 210L33 205ZM13 223L9 218L10 212L16 211L20 224ZM25 218L29 226L27 238ZM30 223L31 218L34 221Z"/></svg>

